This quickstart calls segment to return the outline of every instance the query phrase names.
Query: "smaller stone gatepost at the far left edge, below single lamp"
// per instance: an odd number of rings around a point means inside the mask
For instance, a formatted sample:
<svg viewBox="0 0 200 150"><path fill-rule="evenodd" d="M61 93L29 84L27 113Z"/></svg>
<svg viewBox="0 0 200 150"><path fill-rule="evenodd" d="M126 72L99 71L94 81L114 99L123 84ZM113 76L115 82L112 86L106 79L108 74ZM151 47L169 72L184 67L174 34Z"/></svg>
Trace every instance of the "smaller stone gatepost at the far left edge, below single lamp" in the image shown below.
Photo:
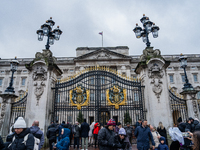
<svg viewBox="0 0 200 150"><path fill-rule="evenodd" d="M12 102L14 102L15 98L18 96L15 93L5 92L0 94L2 97L1 103L1 116L0 116L0 129L1 129L1 136L6 137L10 130L10 117L11 117L11 106Z"/></svg>

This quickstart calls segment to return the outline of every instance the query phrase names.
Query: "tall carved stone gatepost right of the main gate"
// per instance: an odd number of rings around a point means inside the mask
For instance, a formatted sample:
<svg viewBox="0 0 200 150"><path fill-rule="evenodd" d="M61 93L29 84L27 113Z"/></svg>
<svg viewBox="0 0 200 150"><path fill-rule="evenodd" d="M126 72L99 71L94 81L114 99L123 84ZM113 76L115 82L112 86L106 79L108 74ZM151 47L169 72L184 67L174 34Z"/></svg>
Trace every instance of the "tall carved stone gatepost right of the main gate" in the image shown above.
<svg viewBox="0 0 200 150"><path fill-rule="evenodd" d="M146 119L156 127L160 121L166 128L173 126L166 74L170 62L165 61L160 55L160 50L153 50L153 47L143 50L140 59L135 72L139 74L142 85L145 86Z"/></svg>

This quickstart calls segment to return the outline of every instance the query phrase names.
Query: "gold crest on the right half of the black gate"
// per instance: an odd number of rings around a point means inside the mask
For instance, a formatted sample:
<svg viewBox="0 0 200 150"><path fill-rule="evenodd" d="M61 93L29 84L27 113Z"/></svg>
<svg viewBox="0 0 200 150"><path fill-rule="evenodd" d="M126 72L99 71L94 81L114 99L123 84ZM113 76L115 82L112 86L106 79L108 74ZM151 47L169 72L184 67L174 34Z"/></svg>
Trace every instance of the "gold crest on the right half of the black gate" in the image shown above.
<svg viewBox="0 0 200 150"><path fill-rule="evenodd" d="M108 105L115 106L115 109L119 109L120 105L126 105L126 89L122 89L115 84L112 88L106 90L106 99Z"/></svg>

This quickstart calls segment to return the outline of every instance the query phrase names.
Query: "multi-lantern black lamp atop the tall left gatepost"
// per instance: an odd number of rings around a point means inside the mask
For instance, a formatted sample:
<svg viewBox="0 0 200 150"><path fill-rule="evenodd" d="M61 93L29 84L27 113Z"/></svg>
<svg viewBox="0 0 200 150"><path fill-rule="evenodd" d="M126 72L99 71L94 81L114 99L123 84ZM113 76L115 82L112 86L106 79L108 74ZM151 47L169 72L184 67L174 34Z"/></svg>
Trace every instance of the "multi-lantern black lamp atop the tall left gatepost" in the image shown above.
<svg viewBox="0 0 200 150"><path fill-rule="evenodd" d="M41 29L37 30L38 40L42 41L44 36L47 36L47 44L45 45L46 49L49 49L50 45L54 44L54 39L59 40L62 31L57 26L56 29L52 30L55 22L52 20L52 17L46 21L45 24L41 26Z"/></svg>

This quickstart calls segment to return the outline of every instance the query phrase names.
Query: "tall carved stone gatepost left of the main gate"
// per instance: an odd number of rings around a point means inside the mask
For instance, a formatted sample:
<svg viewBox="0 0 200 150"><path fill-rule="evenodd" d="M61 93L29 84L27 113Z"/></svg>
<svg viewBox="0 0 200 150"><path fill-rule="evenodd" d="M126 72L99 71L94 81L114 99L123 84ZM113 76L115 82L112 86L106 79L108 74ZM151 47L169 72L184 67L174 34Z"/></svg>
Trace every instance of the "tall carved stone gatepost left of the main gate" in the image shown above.
<svg viewBox="0 0 200 150"><path fill-rule="evenodd" d="M39 127L46 132L47 126L52 119L53 90L57 76L62 71L56 65L56 58L50 50L37 52L35 59L26 64L29 70L28 97L26 105L26 122L32 126L34 120L39 121Z"/></svg>

